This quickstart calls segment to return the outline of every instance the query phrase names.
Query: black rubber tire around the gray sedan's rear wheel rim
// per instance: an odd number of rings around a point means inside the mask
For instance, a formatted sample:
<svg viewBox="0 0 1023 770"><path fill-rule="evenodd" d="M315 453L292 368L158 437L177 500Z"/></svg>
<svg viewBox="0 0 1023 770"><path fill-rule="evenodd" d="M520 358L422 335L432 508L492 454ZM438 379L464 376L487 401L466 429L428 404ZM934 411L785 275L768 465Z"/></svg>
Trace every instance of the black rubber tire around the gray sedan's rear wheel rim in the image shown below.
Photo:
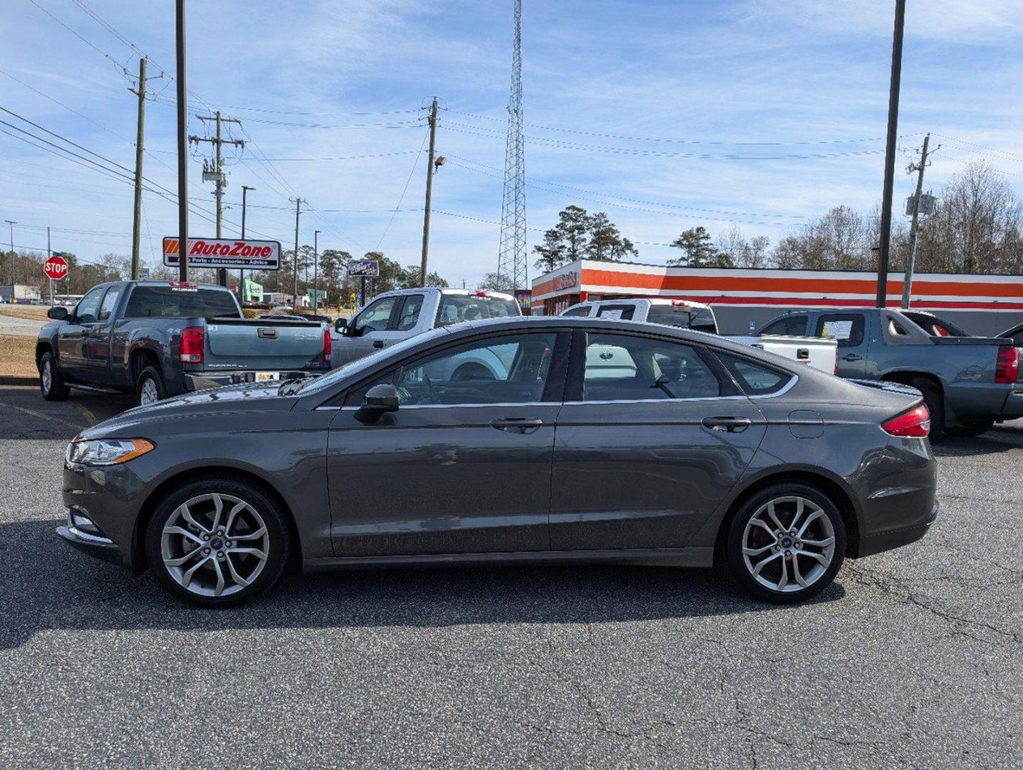
<svg viewBox="0 0 1023 770"><path fill-rule="evenodd" d="M763 528L750 524L754 517L759 518L759 515L764 515L763 509L768 503L775 501L775 514L783 527L788 527L792 524L798 503L795 501L781 502L787 498L802 498L804 501L804 512L800 520L796 523L796 528L798 532L804 523L811 522L809 529L802 536L805 542L793 538L786 532L783 532L783 538L777 538L773 534L766 533ZM806 505L807 502L810 505ZM814 507L821 512L827 524L820 516L814 515ZM748 528L749 533L747 533ZM747 556L744 554L744 548L747 547L747 537L751 539L765 538L762 541L756 540L754 542L751 540L751 549L762 550L764 555L762 558L751 555L749 567L747 565ZM834 538L831 541L830 550L827 547L818 548L808 545L810 542L826 543L829 538ZM786 547L785 544L789 543L790 540L791 544ZM834 501L815 487L799 482L775 484L761 490L743 503L728 525L722 547L723 556L731 577L745 591L762 601L795 604L816 596L825 590L842 568L846 547L845 523ZM811 552L819 552L821 558L828 558L827 565L811 557ZM782 590L764 585L753 575L753 570L762 560L766 560L767 563L760 568L759 577L766 582L783 586ZM790 580L795 576L793 568L790 567L793 563L796 564L800 577L807 583L805 587L800 587L798 581ZM782 580L783 570L785 571L785 583Z"/></svg>

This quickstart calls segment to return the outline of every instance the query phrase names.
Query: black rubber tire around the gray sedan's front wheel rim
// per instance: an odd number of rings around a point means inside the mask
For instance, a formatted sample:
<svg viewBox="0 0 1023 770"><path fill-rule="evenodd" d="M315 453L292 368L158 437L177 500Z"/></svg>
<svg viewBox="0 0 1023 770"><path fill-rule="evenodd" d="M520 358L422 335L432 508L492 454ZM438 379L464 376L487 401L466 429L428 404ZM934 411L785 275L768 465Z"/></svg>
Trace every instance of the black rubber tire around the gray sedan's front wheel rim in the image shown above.
<svg viewBox="0 0 1023 770"><path fill-rule="evenodd" d="M205 536L203 544L196 542L195 557L185 561L180 568L171 567L165 563L164 547L168 547L169 554L177 556L174 550L176 544L187 543L191 548L192 539L186 539L177 535L169 535L169 542L165 544L164 528L168 525L172 515L176 516L172 526L178 526L183 522L183 517L178 513L178 508L184 502L190 502L190 515L197 524L207 526L212 524L212 513L210 509L214 507L212 500L205 499L208 496L220 495L244 501L258 513L259 519L265 527L266 534L256 541L249 539L232 541L233 537L243 538L243 533L238 533L238 527L232 525L231 529L223 535L218 535L218 529L210 531L204 529L189 528L195 535ZM232 500L221 497L223 508L219 529L223 529L225 518L229 514L230 508L234 507ZM198 501L198 502L196 502ZM219 478L199 479L194 482L178 487L168 494L153 511L152 518L145 532L145 555L149 569L152 571L157 581L175 598L196 606L211 607L214 609L226 608L243 604L251 601L260 594L269 590L280 579L284 568L287 564L292 550L292 536L285 519L286 513L274 500L272 494L265 489L253 485L248 481L234 479L229 475ZM239 516L240 518L240 516ZM258 532L258 530L257 530ZM180 539L177 539L180 538ZM177 540L176 540L177 539ZM256 556L239 554L231 551L231 544L239 547L265 547L265 559L258 559ZM254 546L255 543L255 546ZM206 550L203 550L203 549ZM223 551L224 556L218 559L217 550ZM185 549L185 553L188 550ZM227 568L227 560L231 560L230 569ZM199 563L205 561L206 563ZM240 585L231 579L232 571L243 578L253 574L253 570L262 561L262 567L256 573L255 578L248 585ZM198 564L196 567L196 564ZM223 565L223 567L221 567ZM184 579L184 573L192 568L192 573L188 581L188 586L180 582ZM172 570L180 569L180 574L172 573ZM213 595L216 591L215 579L218 574L222 574L225 579L222 595Z"/></svg>

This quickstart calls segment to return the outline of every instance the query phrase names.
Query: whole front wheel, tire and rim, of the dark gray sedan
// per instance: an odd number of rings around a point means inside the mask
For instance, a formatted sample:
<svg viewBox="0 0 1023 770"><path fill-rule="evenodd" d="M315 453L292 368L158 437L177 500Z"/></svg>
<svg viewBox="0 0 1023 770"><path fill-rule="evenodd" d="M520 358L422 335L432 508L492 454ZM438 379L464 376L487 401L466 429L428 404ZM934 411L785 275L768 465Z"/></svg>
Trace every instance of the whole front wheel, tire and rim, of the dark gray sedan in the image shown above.
<svg viewBox="0 0 1023 770"><path fill-rule="evenodd" d="M291 549L284 512L240 480L203 479L168 495L146 530L149 568L191 604L229 607L279 580Z"/></svg>

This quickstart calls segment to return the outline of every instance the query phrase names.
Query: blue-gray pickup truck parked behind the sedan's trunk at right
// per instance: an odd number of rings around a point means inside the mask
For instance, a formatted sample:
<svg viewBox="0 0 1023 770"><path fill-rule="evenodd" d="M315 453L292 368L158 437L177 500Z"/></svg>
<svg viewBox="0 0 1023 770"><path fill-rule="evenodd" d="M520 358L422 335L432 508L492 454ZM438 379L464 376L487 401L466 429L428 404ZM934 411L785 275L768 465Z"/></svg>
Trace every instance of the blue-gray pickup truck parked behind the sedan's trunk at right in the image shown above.
<svg viewBox="0 0 1023 770"><path fill-rule="evenodd" d="M840 377L917 388L931 412L932 440L979 436L1023 417L1020 353L1012 339L955 335L914 315L881 308L796 311L757 334L832 337Z"/></svg>

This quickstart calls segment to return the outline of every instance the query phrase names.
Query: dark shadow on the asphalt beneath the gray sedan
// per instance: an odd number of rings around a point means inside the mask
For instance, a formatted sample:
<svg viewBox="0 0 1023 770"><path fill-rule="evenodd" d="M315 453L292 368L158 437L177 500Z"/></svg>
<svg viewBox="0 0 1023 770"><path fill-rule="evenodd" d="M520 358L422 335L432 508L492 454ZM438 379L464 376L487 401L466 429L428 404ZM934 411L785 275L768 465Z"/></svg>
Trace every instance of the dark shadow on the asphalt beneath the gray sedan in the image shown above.
<svg viewBox="0 0 1023 770"><path fill-rule="evenodd" d="M416 568L288 575L250 604L191 607L148 573L77 553L56 519L0 525L0 648L61 630L585 624L775 612L716 570L655 567ZM12 544L19 544L15 550ZM21 555L34 551L29 558ZM808 603L845 596L838 583Z"/></svg>

